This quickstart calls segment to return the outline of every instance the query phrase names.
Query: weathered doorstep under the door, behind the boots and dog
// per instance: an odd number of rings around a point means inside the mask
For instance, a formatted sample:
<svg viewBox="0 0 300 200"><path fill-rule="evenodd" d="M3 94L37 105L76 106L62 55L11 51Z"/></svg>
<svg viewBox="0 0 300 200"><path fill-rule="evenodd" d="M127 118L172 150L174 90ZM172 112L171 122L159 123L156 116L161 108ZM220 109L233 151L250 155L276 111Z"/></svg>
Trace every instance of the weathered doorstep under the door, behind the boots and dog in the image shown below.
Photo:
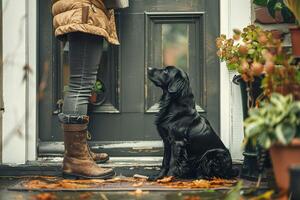
<svg viewBox="0 0 300 200"><path fill-rule="evenodd" d="M61 176L62 157L38 158L26 164L0 165L0 177L10 176ZM111 157L102 167L112 167L117 175L131 177L134 174L145 176L159 172L162 157ZM234 166L240 168L241 162L234 161Z"/></svg>

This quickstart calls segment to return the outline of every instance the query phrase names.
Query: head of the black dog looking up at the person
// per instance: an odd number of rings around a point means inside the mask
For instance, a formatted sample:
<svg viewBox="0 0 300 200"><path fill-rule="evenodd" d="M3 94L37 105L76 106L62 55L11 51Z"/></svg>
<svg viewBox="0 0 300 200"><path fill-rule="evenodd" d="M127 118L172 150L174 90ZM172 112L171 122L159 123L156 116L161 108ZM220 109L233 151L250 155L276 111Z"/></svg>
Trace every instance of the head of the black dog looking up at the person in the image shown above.
<svg viewBox="0 0 300 200"><path fill-rule="evenodd" d="M170 94L178 94L189 88L187 73L173 66L162 69L148 68L148 77L154 85Z"/></svg>

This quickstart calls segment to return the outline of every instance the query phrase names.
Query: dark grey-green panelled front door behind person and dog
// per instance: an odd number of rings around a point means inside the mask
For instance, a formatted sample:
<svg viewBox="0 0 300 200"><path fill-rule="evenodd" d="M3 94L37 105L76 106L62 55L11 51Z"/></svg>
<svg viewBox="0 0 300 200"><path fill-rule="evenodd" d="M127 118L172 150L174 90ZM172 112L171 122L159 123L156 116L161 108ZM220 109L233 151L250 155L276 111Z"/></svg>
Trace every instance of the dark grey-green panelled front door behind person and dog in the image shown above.
<svg viewBox="0 0 300 200"><path fill-rule="evenodd" d="M39 153L62 153L57 122L68 80L68 44L52 35L51 0L39 4ZM130 0L116 12L121 46L105 45L99 79L105 102L91 106L93 148L113 156L160 155L154 126L161 92L147 80L147 67L176 65L190 75L197 109L219 132L218 0Z"/></svg>

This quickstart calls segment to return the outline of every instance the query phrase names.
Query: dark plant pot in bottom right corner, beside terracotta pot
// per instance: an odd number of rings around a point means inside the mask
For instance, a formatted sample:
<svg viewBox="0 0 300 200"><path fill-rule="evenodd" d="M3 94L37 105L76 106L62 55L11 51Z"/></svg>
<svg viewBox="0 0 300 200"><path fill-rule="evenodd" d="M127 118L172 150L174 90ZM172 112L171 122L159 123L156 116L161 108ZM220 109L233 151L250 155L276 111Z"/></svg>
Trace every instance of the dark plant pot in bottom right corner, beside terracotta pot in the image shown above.
<svg viewBox="0 0 300 200"><path fill-rule="evenodd" d="M291 200L300 199L300 165L293 165L290 168L290 187Z"/></svg>

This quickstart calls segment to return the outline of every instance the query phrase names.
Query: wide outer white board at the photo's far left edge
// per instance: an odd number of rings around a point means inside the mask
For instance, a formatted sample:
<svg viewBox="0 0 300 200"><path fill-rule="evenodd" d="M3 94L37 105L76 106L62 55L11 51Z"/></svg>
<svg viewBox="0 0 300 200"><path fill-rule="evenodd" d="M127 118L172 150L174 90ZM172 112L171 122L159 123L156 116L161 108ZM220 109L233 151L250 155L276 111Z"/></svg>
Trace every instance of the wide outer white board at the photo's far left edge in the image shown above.
<svg viewBox="0 0 300 200"><path fill-rule="evenodd" d="M26 1L3 0L3 163L24 163Z"/></svg>

